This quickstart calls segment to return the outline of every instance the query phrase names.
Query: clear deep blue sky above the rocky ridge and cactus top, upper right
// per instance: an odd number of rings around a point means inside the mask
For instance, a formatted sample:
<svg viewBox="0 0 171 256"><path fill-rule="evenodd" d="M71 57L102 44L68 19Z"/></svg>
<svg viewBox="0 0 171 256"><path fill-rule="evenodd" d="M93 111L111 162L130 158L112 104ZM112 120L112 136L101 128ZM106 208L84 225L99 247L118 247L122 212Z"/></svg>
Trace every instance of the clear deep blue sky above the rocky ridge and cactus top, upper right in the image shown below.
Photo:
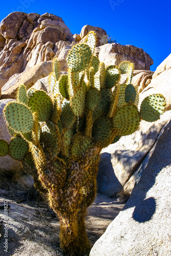
<svg viewBox="0 0 171 256"><path fill-rule="evenodd" d="M84 25L101 27L119 44L147 52L155 71L171 52L170 9L168 0L8 0L1 3L0 20L13 11L49 12L60 16L73 34L79 34Z"/></svg>

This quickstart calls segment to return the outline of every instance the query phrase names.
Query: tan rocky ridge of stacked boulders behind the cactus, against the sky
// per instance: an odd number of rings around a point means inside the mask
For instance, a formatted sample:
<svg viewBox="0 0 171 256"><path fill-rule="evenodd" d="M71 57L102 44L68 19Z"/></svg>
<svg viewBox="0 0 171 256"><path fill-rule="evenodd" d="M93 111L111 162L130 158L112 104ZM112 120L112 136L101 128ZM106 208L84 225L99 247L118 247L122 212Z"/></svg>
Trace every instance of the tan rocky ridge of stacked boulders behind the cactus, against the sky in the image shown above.
<svg viewBox="0 0 171 256"><path fill-rule="evenodd" d="M13 98L13 93L11 96L9 91L6 91L6 88L9 89L9 83L11 87L15 87L11 80L13 75L20 74L22 77L26 70L36 67L40 62L57 57L60 70L66 72L68 52L73 45L84 42L91 30L97 35L95 54L99 55L100 61L104 61L105 65L118 65L122 60L131 60L135 63L135 69L148 71L153 64L151 57L137 47L120 44L101 46L100 39L106 36L106 31L102 28L85 25L80 34L73 35L61 17L49 13L39 15L12 12L2 20L0 30L0 96L3 87L2 98ZM31 77L30 79L34 80Z"/></svg>

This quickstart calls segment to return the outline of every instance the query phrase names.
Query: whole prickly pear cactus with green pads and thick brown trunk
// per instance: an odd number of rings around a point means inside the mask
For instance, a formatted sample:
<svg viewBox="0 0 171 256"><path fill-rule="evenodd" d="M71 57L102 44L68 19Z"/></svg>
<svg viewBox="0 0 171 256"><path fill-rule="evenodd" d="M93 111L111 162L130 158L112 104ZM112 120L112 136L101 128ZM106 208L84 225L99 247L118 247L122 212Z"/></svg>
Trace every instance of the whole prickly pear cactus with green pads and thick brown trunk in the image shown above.
<svg viewBox="0 0 171 256"><path fill-rule="evenodd" d="M69 255L90 250L84 217L96 195L100 151L135 132L141 119L157 120L165 110L164 97L156 94L145 98L139 111L133 63L105 67L93 56L95 42L90 32L84 44L71 49L68 75L59 75L54 59L52 97L37 90L26 97L24 86L19 88L17 102L4 110L13 138L10 145L0 141L1 156L11 154L36 170L60 220L61 248ZM126 84L119 84L125 73Z"/></svg>

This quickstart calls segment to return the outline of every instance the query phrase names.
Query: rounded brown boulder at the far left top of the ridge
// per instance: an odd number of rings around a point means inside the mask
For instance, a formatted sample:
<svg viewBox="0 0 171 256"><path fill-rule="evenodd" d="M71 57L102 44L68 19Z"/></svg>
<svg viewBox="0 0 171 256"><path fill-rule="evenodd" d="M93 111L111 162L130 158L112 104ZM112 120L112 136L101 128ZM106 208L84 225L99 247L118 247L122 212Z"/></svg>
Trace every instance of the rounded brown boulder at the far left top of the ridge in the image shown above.
<svg viewBox="0 0 171 256"><path fill-rule="evenodd" d="M12 12L0 24L1 34L7 38L18 38L19 29L27 17L25 12Z"/></svg>

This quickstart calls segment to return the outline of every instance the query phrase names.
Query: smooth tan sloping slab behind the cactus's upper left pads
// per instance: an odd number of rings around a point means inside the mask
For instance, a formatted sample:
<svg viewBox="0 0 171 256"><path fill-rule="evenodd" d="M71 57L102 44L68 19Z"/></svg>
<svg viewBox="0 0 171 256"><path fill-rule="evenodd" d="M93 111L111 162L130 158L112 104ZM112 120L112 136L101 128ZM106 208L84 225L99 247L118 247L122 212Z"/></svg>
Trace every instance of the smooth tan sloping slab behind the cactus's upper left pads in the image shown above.
<svg viewBox="0 0 171 256"><path fill-rule="evenodd" d="M37 80L42 77L46 77L51 73L52 70L52 62L44 61L39 62L34 67L31 67L24 71L21 74L17 74L4 85L2 88L2 98L13 98L16 97L16 90L20 86L21 83L24 83L27 89L32 87Z"/></svg>

